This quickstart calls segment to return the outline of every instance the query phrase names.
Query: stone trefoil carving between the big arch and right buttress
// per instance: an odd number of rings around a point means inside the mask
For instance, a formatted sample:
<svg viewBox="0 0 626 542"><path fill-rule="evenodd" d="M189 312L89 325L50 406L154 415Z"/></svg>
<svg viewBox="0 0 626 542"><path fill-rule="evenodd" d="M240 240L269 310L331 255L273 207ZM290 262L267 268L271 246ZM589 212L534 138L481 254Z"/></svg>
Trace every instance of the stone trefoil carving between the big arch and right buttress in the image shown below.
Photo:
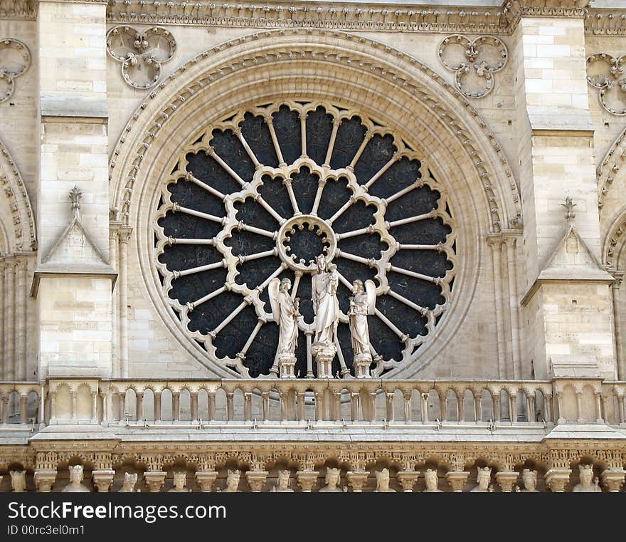
<svg viewBox="0 0 626 542"><path fill-rule="evenodd" d="M455 85L467 98L483 98L494 88L494 73L506 65L506 46L493 36L473 40L460 34L447 36L439 46L439 58L455 72Z"/></svg>

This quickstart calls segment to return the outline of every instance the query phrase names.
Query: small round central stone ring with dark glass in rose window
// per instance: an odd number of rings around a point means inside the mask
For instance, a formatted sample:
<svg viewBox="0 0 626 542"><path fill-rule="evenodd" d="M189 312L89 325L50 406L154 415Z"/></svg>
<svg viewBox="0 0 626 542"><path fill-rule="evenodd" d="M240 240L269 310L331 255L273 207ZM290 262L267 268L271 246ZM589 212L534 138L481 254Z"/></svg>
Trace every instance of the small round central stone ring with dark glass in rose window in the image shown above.
<svg viewBox="0 0 626 542"><path fill-rule="evenodd" d="M287 220L278 231L278 253L295 271L313 273L315 258L321 254L333 259L337 240L331 226L313 214L299 214Z"/></svg>

